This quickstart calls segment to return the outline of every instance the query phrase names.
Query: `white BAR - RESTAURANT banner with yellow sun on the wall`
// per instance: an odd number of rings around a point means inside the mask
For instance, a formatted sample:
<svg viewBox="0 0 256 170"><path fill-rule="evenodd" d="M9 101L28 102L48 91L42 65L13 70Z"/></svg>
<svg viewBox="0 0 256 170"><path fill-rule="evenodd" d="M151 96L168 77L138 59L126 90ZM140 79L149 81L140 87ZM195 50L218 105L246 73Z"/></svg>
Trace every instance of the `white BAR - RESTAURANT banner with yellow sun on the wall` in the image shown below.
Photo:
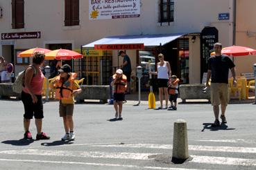
<svg viewBox="0 0 256 170"><path fill-rule="evenodd" d="M140 15L140 0L89 0L89 19L121 19Z"/></svg>

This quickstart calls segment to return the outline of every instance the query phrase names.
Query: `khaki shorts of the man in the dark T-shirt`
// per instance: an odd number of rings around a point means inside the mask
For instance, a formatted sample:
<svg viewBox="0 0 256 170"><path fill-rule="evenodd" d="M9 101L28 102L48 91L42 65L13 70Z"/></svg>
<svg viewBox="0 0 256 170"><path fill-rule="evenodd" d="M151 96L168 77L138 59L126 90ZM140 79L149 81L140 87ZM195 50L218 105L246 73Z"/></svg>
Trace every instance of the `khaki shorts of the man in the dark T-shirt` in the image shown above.
<svg viewBox="0 0 256 170"><path fill-rule="evenodd" d="M227 106L229 102L228 84L212 83L211 86L211 102L212 106Z"/></svg>

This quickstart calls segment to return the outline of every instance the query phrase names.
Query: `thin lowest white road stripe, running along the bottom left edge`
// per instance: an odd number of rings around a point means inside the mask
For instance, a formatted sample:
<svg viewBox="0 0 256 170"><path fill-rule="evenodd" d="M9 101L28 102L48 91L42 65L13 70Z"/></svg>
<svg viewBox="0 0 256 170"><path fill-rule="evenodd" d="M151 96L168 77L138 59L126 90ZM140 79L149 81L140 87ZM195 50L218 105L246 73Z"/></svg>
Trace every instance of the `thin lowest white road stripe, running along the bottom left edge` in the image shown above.
<svg viewBox="0 0 256 170"><path fill-rule="evenodd" d="M126 167L132 169L161 169L161 170L198 170L198 169L184 169L184 168L168 168L168 167L139 167L137 165L130 164L101 164L101 163L91 163L91 162L65 162L65 161L51 161L51 160L12 160L12 159L0 159L0 161L10 161L10 162L33 162L33 163L51 163L51 164L80 164L80 165L92 165L92 166L102 166L102 167ZM203 170L203 169L202 169Z"/></svg>

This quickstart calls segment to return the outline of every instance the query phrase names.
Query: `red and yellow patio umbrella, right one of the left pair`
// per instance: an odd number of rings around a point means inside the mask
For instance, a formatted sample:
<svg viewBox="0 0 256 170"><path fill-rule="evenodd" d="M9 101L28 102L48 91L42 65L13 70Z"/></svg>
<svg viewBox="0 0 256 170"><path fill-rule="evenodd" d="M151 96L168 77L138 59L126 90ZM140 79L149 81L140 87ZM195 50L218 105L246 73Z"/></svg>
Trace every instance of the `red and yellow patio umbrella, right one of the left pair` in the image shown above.
<svg viewBox="0 0 256 170"><path fill-rule="evenodd" d="M73 50L58 49L52 50L45 54L45 59L57 59L57 60L69 60L69 59L80 59L83 55L76 53Z"/></svg>

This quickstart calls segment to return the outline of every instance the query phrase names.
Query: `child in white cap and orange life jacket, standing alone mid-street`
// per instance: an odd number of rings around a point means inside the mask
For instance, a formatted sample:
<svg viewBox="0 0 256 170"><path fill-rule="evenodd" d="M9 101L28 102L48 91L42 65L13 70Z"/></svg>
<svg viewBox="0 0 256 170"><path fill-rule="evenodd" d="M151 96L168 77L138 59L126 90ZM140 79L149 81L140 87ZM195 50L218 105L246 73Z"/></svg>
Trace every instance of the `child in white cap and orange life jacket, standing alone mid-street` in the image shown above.
<svg viewBox="0 0 256 170"><path fill-rule="evenodd" d="M123 120L122 118L122 108L123 108L123 101L125 100L125 92L127 87L127 79L126 75L123 75L123 70L117 69L116 73L112 76L113 81L111 82L111 86L113 87L114 91L114 110L116 111L114 117L117 120Z"/></svg>

